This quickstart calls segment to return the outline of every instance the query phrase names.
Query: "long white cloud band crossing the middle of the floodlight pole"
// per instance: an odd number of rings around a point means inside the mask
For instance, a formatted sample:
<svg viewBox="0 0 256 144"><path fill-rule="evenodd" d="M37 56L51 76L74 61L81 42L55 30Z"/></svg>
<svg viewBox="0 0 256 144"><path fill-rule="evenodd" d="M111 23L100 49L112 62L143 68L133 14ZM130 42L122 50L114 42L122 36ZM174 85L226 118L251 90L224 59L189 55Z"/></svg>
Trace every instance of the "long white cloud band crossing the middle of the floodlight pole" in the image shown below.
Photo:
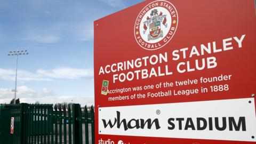
<svg viewBox="0 0 256 144"><path fill-rule="evenodd" d="M18 70L17 79L26 81L54 81L54 79L93 79L92 69L56 68L51 70L38 69L36 73ZM0 68L0 79L15 81L15 70Z"/></svg>

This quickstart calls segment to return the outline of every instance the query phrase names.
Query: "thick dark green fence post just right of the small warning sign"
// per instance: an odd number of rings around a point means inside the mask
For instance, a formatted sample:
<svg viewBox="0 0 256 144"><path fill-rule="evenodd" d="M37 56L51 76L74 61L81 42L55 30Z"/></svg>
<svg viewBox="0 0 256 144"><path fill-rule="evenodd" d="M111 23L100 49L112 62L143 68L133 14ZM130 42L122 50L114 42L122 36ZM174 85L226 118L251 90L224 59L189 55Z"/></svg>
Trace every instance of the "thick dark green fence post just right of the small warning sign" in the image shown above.
<svg viewBox="0 0 256 144"><path fill-rule="evenodd" d="M25 119L25 107L26 107L26 103L21 103L20 106L20 143L21 144L25 144L25 140L26 140L26 119Z"/></svg>

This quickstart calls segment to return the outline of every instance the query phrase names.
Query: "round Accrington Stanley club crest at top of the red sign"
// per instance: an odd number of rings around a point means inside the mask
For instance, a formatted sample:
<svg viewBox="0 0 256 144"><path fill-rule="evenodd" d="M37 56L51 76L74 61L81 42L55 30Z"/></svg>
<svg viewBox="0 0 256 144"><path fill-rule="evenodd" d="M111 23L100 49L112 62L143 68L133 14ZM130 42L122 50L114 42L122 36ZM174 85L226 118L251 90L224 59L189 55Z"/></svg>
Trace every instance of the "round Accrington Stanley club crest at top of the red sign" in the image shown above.
<svg viewBox="0 0 256 144"><path fill-rule="evenodd" d="M146 50L157 50L167 44L178 26L178 13L168 1L154 1L145 6L137 17L134 36Z"/></svg>

